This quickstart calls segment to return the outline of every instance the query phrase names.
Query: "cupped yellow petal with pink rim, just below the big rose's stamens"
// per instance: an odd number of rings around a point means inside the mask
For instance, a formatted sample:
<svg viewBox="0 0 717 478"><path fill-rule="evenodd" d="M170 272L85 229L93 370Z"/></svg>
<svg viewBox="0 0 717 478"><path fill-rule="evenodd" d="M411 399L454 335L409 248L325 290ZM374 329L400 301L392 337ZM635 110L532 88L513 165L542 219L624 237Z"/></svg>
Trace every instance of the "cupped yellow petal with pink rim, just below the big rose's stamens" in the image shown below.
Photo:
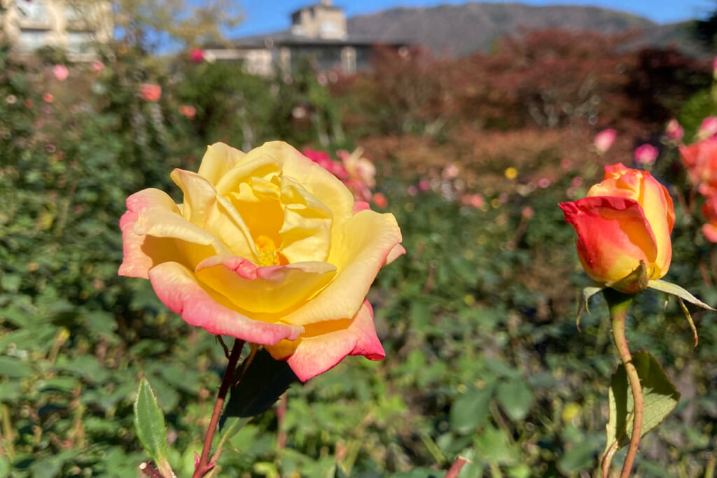
<svg viewBox="0 0 717 478"><path fill-rule="evenodd" d="M196 277L201 282L237 308L252 312L252 317L262 314L257 317L269 321L284 320L281 312L303 305L335 274L336 267L326 262L257 267L233 256L209 257L196 267Z"/></svg>

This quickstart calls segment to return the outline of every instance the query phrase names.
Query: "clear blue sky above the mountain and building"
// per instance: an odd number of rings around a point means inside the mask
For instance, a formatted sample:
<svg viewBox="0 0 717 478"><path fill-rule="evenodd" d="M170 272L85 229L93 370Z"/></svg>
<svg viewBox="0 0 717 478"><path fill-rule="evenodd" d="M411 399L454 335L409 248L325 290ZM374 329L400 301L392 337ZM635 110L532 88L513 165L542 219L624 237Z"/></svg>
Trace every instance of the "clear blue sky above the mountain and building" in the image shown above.
<svg viewBox="0 0 717 478"><path fill-rule="evenodd" d="M316 4L319 0L244 0L244 21L234 29L231 37L277 32L290 25L291 12ZM464 4L465 0L333 0L351 17L399 6L437 6ZM505 3L495 1L493 3ZM529 5L592 5L627 11L645 16L657 23L672 23L686 19L700 18L717 8L713 0L515 0L514 3Z"/></svg>

